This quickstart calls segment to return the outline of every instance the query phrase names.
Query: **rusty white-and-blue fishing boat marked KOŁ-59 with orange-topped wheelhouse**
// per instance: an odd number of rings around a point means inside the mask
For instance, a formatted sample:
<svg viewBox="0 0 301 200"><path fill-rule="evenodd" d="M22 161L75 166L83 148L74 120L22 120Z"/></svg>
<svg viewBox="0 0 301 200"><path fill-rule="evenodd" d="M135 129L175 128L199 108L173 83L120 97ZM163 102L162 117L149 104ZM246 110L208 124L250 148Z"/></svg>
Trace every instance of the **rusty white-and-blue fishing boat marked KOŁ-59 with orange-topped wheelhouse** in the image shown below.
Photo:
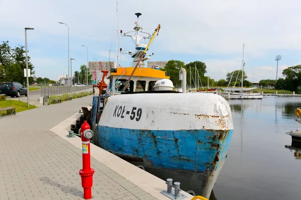
<svg viewBox="0 0 301 200"><path fill-rule="evenodd" d="M137 18L141 13L136 13ZM100 96L93 97L90 125L99 147L181 188L209 198L227 155L233 121L228 102L220 95L186 93L186 70L181 68L182 92L160 68L139 65L160 25L146 34L135 23L135 66L103 71ZM139 36L144 34L144 36ZM149 39L147 44L141 38ZM137 58L138 57L138 58ZM147 56L147 59L149 56ZM109 84L104 76L108 74ZM106 93L101 92L106 87Z"/></svg>

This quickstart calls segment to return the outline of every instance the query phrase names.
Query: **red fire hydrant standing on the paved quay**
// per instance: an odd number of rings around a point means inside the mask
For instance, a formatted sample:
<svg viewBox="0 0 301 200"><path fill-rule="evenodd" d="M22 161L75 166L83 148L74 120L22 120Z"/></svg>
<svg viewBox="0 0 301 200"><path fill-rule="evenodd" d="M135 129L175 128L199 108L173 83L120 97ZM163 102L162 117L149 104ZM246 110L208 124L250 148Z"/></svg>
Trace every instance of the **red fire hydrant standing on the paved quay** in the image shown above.
<svg viewBox="0 0 301 200"><path fill-rule="evenodd" d="M82 187L84 188L84 198L92 198L91 187L93 184L94 169L91 168L90 160L90 138L93 136L93 131L90 130L90 125L84 121L80 130L82 139L82 152L83 152L83 168L79 170L82 179Z"/></svg>

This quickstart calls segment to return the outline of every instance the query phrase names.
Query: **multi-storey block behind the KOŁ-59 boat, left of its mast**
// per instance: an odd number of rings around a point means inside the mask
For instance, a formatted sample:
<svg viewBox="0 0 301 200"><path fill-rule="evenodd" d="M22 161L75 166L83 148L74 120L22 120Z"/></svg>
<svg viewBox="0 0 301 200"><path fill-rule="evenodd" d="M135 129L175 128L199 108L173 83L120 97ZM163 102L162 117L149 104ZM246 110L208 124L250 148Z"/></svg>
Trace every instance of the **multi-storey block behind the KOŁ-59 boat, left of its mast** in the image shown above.
<svg viewBox="0 0 301 200"><path fill-rule="evenodd" d="M110 71L110 68L114 68L114 61L89 61L88 67L90 70L90 73L92 74L92 84L96 84L97 82L101 81L102 78L102 72L101 70L108 70ZM106 82L105 78L105 82Z"/></svg>

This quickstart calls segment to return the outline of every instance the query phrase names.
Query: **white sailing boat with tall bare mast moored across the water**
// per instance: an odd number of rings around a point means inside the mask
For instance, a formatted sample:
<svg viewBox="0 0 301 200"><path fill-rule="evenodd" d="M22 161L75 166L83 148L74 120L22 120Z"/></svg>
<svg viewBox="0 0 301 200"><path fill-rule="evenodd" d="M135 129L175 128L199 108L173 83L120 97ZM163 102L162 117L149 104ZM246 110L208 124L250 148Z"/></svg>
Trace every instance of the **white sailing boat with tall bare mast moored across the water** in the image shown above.
<svg viewBox="0 0 301 200"><path fill-rule="evenodd" d="M244 44L243 44L243 50L242 50L242 71L241 71L241 91L240 92L230 92L229 98L230 99L262 99L263 94L257 93L257 92L247 92L248 88L243 88L243 68L244 68L245 62L244 62ZM224 93L224 96L227 94Z"/></svg>

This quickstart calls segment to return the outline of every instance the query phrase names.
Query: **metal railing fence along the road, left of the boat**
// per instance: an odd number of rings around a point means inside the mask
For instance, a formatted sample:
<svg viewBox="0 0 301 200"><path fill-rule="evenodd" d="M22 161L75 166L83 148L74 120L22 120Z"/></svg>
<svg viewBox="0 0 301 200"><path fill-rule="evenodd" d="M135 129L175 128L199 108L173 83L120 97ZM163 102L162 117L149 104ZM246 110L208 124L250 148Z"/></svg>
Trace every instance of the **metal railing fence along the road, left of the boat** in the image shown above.
<svg viewBox="0 0 301 200"><path fill-rule="evenodd" d="M72 87L72 92L85 91L92 88L92 85ZM59 95L64 93L71 93L71 87L68 86L41 86L41 96Z"/></svg>

